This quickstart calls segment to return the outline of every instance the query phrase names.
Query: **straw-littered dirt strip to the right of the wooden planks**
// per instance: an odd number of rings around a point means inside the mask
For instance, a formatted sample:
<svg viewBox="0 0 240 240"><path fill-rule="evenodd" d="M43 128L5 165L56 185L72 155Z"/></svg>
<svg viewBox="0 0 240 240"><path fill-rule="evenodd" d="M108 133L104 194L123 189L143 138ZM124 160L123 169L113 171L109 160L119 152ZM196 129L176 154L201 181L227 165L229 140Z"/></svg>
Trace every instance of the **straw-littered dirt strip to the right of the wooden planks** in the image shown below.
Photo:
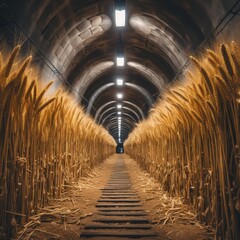
<svg viewBox="0 0 240 240"><path fill-rule="evenodd" d="M171 198L161 185L128 157L125 163L132 181L159 239L210 240L214 232L196 220L196 215L180 198Z"/></svg>

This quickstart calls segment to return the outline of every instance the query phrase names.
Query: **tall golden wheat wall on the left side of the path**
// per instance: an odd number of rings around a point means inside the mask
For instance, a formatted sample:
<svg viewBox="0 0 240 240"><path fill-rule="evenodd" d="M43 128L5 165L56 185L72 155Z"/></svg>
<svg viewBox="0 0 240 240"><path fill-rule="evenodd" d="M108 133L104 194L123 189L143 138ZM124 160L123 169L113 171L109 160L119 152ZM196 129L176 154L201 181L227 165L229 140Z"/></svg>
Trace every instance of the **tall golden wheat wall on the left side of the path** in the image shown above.
<svg viewBox="0 0 240 240"><path fill-rule="evenodd" d="M19 50L0 58L0 226L9 237L115 145L69 94L47 98L51 83L40 87Z"/></svg>

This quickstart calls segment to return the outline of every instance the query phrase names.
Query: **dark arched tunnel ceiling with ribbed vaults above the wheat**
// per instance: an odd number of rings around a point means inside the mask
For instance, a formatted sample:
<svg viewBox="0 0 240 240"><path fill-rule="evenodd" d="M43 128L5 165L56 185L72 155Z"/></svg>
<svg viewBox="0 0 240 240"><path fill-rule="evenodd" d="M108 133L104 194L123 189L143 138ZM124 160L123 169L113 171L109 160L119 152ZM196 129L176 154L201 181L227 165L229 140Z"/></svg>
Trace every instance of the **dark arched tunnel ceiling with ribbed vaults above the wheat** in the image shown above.
<svg viewBox="0 0 240 240"><path fill-rule="evenodd" d="M236 0L122 2L126 26L117 28L113 0L0 1L0 23L15 23L29 36L117 142L120 118L124 141ZM119 48L124 67L116 66Z"/></svg>

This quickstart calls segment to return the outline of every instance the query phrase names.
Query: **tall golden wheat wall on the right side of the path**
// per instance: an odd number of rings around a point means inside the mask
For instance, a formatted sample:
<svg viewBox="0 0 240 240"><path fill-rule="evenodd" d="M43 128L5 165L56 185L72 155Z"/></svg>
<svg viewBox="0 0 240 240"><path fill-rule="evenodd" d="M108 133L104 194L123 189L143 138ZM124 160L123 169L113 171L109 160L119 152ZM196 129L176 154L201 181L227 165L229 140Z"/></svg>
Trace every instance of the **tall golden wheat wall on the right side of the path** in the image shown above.
<svg viewBox="0 0 240 240"><path fill-rule="evenodd" d="M126 141L172 196L183 196L217 239L240 239L240 45L207 50Z"/></svg>

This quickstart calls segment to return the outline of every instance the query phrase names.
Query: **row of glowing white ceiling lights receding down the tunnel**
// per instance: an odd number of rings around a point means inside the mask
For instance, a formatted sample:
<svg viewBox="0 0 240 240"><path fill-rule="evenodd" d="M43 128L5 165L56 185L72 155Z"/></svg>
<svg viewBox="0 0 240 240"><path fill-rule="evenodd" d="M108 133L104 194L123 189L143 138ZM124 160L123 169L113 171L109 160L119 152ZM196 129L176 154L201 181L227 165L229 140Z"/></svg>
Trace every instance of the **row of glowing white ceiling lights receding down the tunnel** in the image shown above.
<svg viewBox="0 0 240 240"><path fill-rule="evenodd" d="M126 22L126 10L125 10L125 1L124 0L116 0L115 1L115 23L116 27L125 27ZM117 67L124 67L125 65L125 59L123 56L122 51L117 53L117 59L116 59L116 65ZM123 85L123 79L117 78L116 80L117 86ZM117 99L122 99L123 94L117 93ZM118 142L121 142L121 128L122 128L122 117L121 117L121 109L122 104L117 104L117 114L118 114Z"/></svg>

